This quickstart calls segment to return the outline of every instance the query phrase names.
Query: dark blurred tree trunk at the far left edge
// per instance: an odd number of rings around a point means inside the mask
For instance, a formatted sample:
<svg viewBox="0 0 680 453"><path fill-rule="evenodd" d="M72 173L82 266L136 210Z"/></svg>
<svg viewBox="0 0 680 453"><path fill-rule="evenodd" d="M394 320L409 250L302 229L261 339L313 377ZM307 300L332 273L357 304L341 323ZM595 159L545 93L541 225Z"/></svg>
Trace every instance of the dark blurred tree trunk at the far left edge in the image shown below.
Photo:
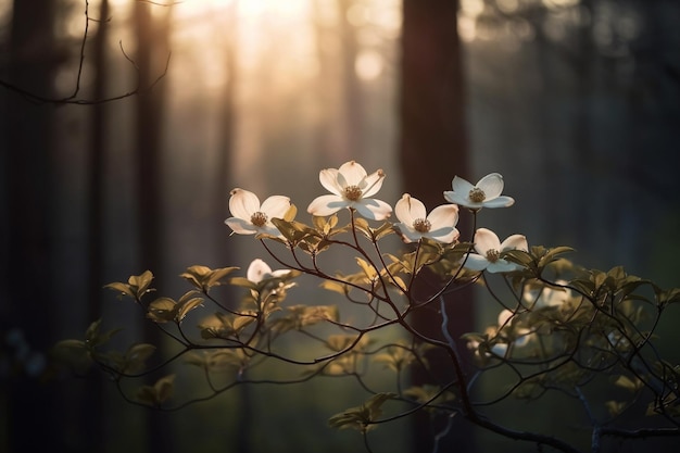
<svg viewBox="0 0 680 453"><path fill-rule="evenodd" d="M53 43L54 2L17 0L12 14L8 80L37 96L51 97L58 65ZM3 193L8 200L7 218L2 219L7 223L7 238L2 253L5 293L0 304L0 331L21 329L32 350L45 351L54 340L52 322L56 310L50 297L54 112L49 106L32 104L20 95L7 91L5 96ZM3 336L1 341L5 340ZM0 448L14 453L34 452L43 451L49 442L53 449L64 449L68 432L61 424L61 414L65 407L58 405L51 389L32 376L26 361L29 357L13 358L23 369L17 370L18 376L9 377L8 387L2 389L7 392L7 408L3 407L2 414L7 445L3 440Z"/></svg>

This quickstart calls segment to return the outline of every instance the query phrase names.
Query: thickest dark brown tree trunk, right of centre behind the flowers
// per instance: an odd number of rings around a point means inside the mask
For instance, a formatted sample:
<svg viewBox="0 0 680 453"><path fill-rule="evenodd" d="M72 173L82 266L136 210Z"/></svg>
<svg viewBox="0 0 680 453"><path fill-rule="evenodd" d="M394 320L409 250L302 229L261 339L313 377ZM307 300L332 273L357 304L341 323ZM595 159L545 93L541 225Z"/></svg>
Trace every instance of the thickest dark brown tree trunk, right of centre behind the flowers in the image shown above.
<svg viewBox="0 0 680 453"><path fill-rule="evenodd" d="M468 178L467 134L464 115L463 61L457 35L458 2L453 0L404 0L402 23L401 166L405 189L428 210L444 203L454 175ZM469 235L462 212L458 229ZM421 299L439 285L433 277L420 285ZM450 332L458 338L473 330L471 289L446 295ZM419 312L413 319L423 334L442 338L439 304ZM431 364L437 368L437 357ZM435 369L440 379L452 379L444 369ZM428 379L414 374L416 385ZM436 429L441 429L438 426ZM413 452L432 451L428 414L415 418ZM440 441L440 451L473 450L470 430L455 420L450 435Z"/></svg>

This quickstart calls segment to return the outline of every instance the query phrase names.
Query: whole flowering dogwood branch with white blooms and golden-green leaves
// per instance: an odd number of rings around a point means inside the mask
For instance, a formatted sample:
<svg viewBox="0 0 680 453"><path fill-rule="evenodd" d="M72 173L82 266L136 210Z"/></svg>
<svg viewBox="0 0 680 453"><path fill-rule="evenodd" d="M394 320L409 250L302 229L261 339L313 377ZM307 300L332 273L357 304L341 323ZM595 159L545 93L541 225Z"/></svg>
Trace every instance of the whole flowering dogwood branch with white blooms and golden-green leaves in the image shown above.
<svg viewBox="0 0 680 453"><path fill-rule="evenodd" d="M582 451L585 445L540 429L522 429L514 419L490 418L483 412L511 398L540 404L551 392L567 395L585 408L588 417L579 423L590 426L590 451L599 451L605 438L680 436L680 366L665 362L652 343L664 310L680 302L680 289L662 290L620 267L606 273L582 269L564 257L569 248L529 247L522 235L501 241L495 232L478 228L477 217L483 209L514 203L502 194L499 174L488 175L475 186L455 177L453 191L444 192L450 204L429 214L407 193L394 210L374 199L383 178L381 171L368 174L353 161L322 171L319 181L331 193L310 203L311 225L295 219L297 207L288 197L274 196L261 203L254 193L234 189L229 200L232 216L226 224L235 234L255 236L282 269L273 270L263 260L253 261L245 277L235 276L237 267L191 266L181 274L192 286L190 291L178 300L161 297L148 304L142 304L142 299L152 291L150 272L130 277L127 284L109 285L134 299L177 343L179 351L169 360L147 367L155 349L148 344L133 345L125 353L104 350L113 334L101 332L99 324L88 329L85 341L65 340L58 350L62 355L86 353L114 378L121 391L122 380L184 357L188 368L200 369L210 390L207 397L192 398L180 390L176 402L172 376L143 386L136 399L125 397L165 411L205 401L240 385L354 379L368 400L331 416L329 425L358 430L367 451L375 448L368 443L369 431L420 411L443 421L433 439L436 445L455 429L455 420L464 417L508 439L562 452ZM456 228L461 207L474 217L469 242L461 240ZM342 210L349 211L345 225L339 223ZM392 214L398 222L389 222ZM369 222L380 224L372 226ZM388 237L400 238L404 249L383 252L379 242ZM275 244L281 246L282 252ZM356 253L353 273L331 274L319 262L323 253L340 249ZM438 286L431 295L418 300L414 288L424 273L437 276ZM341 294L366 316L348 322L341 316L342 304L286 303L301 275L319 279L323 289ZM212 290L222 285L242 290L242 300L221 301ZM469 285L489 292L498 304L498 323L481 332L452 332L449 320L455 307L446 303L444 294ZM217 312L206 315L207 305ZM430 338L412 324L410 315L420 310L437 310L441 338ZM198 320L200 339L193 339L182 324L190 317ZM388 328L399 329L396 340L377 335ZM295 334L304 348L290 351L279 345L279 338ZM459 351L456 336L466 342L466 349ZM429 364L433 351L443 353L444 358L438 360L446 361L451 376L435 375ZM276 379L251 376L259 364L269 360L289 365L291 374ZM471 375L466 370L470 362L475 364ZM366 379L378 365L394 373L392 386ZM406 374L416 369L429 375L430 382L405 386ZM479 391L483 376L496 376L502 382L495 394L478 399L483 395ZM621 397L621 391L628 397ZM641 404L646 404L642 412ZM596 408L606 410L607 415L595 417ZM634 417L639 428L617 427L624 414Z"/></svg>

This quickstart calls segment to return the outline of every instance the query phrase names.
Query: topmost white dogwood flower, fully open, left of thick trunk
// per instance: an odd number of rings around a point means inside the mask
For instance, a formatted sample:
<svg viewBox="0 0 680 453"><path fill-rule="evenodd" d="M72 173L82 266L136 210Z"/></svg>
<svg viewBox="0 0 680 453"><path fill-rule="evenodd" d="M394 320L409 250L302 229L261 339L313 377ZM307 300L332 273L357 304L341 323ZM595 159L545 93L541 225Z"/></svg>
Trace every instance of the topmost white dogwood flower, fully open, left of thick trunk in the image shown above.
<svg viewBox="0 0 680 453"><path fill-rule="evenodd" d="M349 207L356 210L365 218L382 221L392 212L392 207L385 201L368 198L382 187L385 173L381 169L368 175L363 166L350 161L340 168L322 169L318 179L332 194L314 199L307 207L312 215L331 215Z"/></svg>

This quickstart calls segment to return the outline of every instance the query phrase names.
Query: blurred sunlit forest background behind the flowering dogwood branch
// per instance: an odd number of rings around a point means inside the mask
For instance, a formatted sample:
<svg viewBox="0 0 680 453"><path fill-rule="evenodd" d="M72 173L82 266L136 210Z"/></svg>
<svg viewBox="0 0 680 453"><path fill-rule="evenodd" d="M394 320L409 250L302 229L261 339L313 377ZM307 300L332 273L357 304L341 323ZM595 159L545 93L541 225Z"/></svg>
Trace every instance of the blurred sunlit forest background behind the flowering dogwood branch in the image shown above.
<svg viewBox="0 0 680 453"><path fill-rule="evenodd" d="M675 0L0 0L0 450L363 448L326 419L365 395L311 397L324 380L150 414L110 382L40 378L99 317L144 337L103 285L152 269L178 295L189 265L262 256L224 225L234 187L304 219L318 171L349 160L428 209L499 172L516 204L480 222L501 239L679 286L679 23ZM417 424L382 431L378 451L428 451Z"/></svg>

